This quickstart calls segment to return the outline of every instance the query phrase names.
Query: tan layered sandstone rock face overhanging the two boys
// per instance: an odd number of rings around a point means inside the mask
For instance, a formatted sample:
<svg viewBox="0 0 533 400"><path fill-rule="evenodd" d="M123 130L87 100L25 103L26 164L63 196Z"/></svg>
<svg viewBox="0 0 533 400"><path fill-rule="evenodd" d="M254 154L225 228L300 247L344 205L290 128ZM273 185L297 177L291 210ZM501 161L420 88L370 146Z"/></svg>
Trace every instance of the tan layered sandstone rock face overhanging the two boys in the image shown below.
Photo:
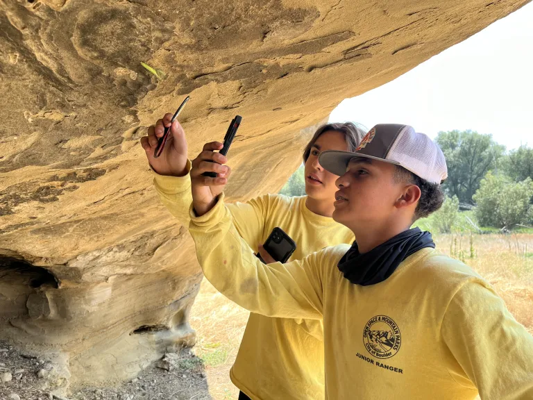
<svg viewBox="0 0 533 400"><path fill-rule="evenodd" d="M194 344L201 272L145 127L189 94L194 157L238 113L227 192L276 192L303 128L525 3L0 0L0 337L60 354L74 385Z"/></svg>

